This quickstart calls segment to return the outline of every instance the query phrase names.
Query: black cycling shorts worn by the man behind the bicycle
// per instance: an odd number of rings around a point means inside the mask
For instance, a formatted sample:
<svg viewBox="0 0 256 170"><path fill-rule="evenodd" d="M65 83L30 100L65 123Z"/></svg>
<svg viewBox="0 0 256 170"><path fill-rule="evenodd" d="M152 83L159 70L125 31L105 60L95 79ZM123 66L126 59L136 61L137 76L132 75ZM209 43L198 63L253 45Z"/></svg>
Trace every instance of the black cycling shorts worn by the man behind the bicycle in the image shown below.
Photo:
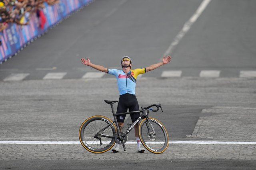
<svg viewBox="0 0 256 170"><path fill-rule="evenodd" d="M129 109L129 111L139 110L139 104L134 94L126 93L120 95L119 97L116 113L125 113L127 112L127 109ZM116 116L116 119L118 122L124 123L125 116L126 115L118 115ZM132 123L134 123L138 119L138 117L140 117L140 113L131 113L130 116L132 119Z"/></svg>

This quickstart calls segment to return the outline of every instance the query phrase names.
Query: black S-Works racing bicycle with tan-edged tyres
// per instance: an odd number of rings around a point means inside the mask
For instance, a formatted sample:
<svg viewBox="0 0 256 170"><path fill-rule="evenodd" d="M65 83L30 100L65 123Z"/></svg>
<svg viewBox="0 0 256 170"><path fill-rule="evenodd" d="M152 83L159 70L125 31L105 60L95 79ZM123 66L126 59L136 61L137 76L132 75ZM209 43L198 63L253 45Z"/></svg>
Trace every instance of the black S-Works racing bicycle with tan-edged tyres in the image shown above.
<svg viewBox="0 0 256 170"><path fill-rule="evenodd" d="M123 146L126 150L125 143L127 142L127 134L139 123L139 138L142 145L150 152L160 154L168 147L168 133L164 125L153 117L149 117L150 110L162 110L161 104L153 104L148 107L141 107L141 110L130 111L125 113L115 113L113 104L118 101L104 100L110 104L114 121L102 115L96 115L86 119L79 129L79 139L82 146L93 153L103 153L110 150L115 143ZM156 107L152 109L151 107ZM163 111L163 110L162 110ZM122 132L116 120L117 115L130 113L141 113L138 119L128 124L126 132Z"/></svg>

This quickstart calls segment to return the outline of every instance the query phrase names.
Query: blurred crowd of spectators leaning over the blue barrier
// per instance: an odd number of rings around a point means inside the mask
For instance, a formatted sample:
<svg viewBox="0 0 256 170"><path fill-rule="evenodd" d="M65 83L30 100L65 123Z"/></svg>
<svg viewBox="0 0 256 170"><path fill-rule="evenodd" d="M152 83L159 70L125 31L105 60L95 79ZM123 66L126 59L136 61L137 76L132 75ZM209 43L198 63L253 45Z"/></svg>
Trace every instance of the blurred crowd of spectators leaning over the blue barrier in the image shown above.
<svg viewBox="0 0 256 170"><path fill-rule="evenodd" d="M40 18L40 27L43 29L46 22L42 8L44 3L54 5L59 0L0 0L0 31L8 27L8 23L28 25L30 16L36 13Z"/></svg>

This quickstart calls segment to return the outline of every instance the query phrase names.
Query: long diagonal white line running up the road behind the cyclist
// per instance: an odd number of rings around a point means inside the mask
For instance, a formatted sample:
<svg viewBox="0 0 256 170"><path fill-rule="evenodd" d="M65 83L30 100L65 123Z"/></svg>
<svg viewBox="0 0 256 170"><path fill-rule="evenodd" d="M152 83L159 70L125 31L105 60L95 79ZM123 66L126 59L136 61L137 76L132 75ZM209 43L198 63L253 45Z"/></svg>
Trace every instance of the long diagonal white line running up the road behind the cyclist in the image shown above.
<svg viewBox="0 0 256 170"><path fill-rule="evenodd" d="M198 17L202 14L202 12L204 11L204 9L208 6L209 2L211 0L204 0L200 6L198 7L198 9L196 10L196 12L193 14L193 16L184 24L183 28L181 29L181 31L178 33L178 35L176 35L174 41L171 43L171 45L169 46L169 48L166 50L166 52L164 53L164 56L167 55L171 55L172 51L174 50L174 48L178 45L178 43L180 43L180 40L184 37L184 35L188 32L188 30L190 29L190 27L193 25L193 23L198 19ZM162 59L161 59L162 61Z"/></svg>

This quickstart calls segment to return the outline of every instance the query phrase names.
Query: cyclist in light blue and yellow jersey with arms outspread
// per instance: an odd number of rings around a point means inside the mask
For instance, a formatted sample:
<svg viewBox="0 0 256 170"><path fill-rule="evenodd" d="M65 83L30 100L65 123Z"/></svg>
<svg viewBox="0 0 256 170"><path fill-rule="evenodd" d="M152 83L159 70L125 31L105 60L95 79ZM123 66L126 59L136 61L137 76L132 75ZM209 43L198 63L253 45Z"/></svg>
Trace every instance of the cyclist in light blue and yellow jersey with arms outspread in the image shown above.
<svg viewBox="0 0 256 170"><path fill-rule="evenodd" d="M127 112L127 109L129 111L137 111L139 110L139 104L137 101L137 98L135 96L135 87L136 87L136 79L139 74L144 74L145 72L149 72L151 70L154 70L164 64L167 64L171 61L171 56L163 57L162 62L152 64L145 68L136 68L134 70L131 70L132 68L132 59L128 56L122 57L121 65L122 70L117 69L108 69L104 66L92 64L90 60L87 58L81 59L81 63L85 64L87 66L90 66L92 68L95 68L96 70L100 70L102 72L106 72L108 74L112 74L116 76L117 79L117 85L118 85L118 91L119 91L119 100L118 100L118 106L116 113L124 113ZM132 123L134 123L138 117L140 116L140 113L132 113L130 114L130 117L132 119ZM124 125L124 119L126 115L118 115L116 116L116 119L118 121L118 125L120 128ZM138 124L134 126L135 129L135 137L137 140L137 149L138 152L143 153L145 149L140 147L140 138L138 135ZM119 152L119 144L116 144L114 149L112 149L113 152Z"/></svg>

